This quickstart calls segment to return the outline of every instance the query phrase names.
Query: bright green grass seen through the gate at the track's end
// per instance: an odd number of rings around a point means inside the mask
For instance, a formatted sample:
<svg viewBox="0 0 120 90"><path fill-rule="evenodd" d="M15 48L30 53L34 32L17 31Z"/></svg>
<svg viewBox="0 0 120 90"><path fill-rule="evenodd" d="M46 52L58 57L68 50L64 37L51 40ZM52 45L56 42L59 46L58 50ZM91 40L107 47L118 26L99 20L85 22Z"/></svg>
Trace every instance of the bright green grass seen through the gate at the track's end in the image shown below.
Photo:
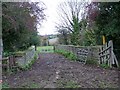
<svg viewBox="0 0 120 90"><path fill-rule="evenodd" d="M53 53L53 46L39 46L37 47L37 51L41 53Z"/></svg>

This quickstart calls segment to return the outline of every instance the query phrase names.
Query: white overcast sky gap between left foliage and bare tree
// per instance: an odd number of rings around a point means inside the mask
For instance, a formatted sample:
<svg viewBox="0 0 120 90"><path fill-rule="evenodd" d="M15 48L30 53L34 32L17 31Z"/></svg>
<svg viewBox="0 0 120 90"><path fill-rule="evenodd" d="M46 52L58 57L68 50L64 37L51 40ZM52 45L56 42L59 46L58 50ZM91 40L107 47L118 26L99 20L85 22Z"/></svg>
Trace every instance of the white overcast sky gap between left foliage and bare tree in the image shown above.
<svg viewBox="0 0 120 90"><path fill-rule="evenodd" d="M42 26L38 29L40 35L46 34L55 34L57 33L55 30L55 22L57 19L57 7L60 2L64 0L41 0L45 3L47 9L45 13L47 15L47 20L42 23Z"/></svg>

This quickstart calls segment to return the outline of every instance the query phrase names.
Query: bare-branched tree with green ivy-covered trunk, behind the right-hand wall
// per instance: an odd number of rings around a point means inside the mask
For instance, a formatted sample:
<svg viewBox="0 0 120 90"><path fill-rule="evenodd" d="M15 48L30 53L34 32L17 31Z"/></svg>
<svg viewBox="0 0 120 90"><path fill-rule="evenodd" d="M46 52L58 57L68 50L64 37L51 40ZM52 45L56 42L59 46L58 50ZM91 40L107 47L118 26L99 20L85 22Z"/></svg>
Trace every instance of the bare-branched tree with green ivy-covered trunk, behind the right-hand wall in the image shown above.
<svg viewBox="0 0 120 90"><path fill-rule="evenodd" d="M58 6L58 15L60 22L57 24L60 28L64 28L71 34L71 43L79 44L80 31L82 24L81 19L84 15L85 2L78 2L71 0L63 2Z"/></svg>

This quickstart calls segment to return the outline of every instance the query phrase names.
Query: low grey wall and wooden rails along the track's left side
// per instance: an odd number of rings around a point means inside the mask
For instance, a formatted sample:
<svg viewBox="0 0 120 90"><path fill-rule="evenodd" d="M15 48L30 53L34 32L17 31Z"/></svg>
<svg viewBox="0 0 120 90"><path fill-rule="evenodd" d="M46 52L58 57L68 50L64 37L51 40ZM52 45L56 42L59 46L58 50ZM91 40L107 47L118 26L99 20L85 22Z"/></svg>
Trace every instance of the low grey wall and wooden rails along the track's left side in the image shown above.
<svg viewBox="0 0 120 90"><path fill-rule="evenodd" d="M9 57L2 59L2 67L7 68L7 71L13 67L24 67L26 66L31 60L33 60L35 56L35 48L31 48L23 55L11 55Z"/></svg>

